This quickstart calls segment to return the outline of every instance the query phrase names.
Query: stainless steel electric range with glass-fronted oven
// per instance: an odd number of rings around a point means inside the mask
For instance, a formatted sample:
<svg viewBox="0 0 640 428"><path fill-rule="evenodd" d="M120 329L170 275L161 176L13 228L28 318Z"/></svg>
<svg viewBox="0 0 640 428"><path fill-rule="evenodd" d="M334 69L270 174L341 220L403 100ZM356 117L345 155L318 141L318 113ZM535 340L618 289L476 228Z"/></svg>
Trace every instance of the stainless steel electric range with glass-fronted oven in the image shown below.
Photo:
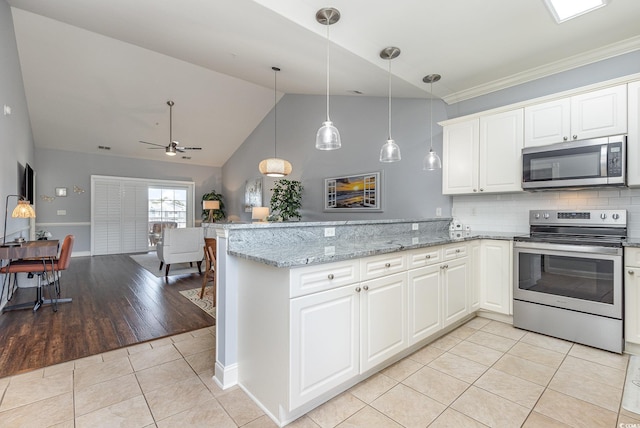
<svg viewBox="0 0 640 428"><path fill-rule="evenodd" d="M622 352L626 210L532 210L514 238L513 325Z"/></svg>

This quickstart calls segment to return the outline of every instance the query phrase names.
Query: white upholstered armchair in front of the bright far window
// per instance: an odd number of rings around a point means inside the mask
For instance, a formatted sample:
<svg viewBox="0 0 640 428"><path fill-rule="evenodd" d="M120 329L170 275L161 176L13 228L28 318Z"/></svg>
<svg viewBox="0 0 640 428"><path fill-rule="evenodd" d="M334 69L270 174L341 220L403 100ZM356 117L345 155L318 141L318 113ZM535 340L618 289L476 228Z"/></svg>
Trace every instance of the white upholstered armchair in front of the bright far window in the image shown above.
<svg viewBox="0 0 640 428"><path fill-rule="evenodd" d="M204 258L204 229L201 227L184 227L164 229L162 241L156 245L156 253L160 260L160 269L166 265L165 276L169 275L172 263L198 264L198 272L202 273Z"/></svg>

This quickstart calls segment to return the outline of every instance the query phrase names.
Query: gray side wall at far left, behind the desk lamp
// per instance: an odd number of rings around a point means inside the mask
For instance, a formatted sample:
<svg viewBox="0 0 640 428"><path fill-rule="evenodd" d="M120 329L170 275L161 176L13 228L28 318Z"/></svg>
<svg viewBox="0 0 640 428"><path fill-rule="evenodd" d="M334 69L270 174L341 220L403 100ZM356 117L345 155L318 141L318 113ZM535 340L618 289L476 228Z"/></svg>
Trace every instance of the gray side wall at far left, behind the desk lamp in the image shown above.
<svg viewBox="0 0 640 428"><path fill-rule="evenodd" d="M13 18L5 0L0 0L0 58L0 192L4 205L7 195L20 192L21 171L26 163L33 166L34 156ZM4 105L11 107L10 115L2 113ZM17 198L9 198L9 209L12 210L16 203ZM12 219L9 214L7 240L20 233L28 237L28 227L28 220ZM0 228L4 228L4 217L0 220Z"/></svg>

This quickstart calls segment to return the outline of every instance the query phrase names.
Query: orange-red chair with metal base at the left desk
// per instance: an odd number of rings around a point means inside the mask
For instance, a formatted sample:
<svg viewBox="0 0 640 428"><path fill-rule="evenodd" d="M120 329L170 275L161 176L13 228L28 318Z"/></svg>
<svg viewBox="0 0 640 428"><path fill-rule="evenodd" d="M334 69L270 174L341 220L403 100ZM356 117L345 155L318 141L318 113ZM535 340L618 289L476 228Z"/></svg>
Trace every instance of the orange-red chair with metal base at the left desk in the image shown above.
<svg viewBox="0 0 640 428"><path fill-rule="evenodd" d="M62 242L60 255L55 259L40 260L16 260L0 269L0 273L7 275L18 273L31 273L38 276L38 286L36 288L36 300L33 303L20 303L7 306L3 310L11 311L25 309L33 305L34 312L42 305L51 305L54 312L58 311L58 303L69 303L71 298L60 298L60 272L69 267L71 251L75 242L74 235L67 235ZM53 286L53 291L51 290ZM43 297L43 287L49 288L49 299Z"/></svg>

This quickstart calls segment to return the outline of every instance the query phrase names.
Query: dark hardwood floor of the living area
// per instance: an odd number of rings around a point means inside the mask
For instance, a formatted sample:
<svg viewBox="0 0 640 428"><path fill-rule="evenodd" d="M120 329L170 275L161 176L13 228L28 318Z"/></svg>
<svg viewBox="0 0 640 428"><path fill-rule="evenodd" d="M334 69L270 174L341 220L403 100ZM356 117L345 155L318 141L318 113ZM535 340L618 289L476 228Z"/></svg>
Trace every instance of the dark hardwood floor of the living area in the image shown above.
<svg viewBox="0 0 640 428"><path fill-rule="evenodd" d="M198 273L157 278L127 255L72 258L61 297L73 302L0 315L0 377L212 326L179 294L201 285ZM9 304L34 299L22 288Z"/></svg>

